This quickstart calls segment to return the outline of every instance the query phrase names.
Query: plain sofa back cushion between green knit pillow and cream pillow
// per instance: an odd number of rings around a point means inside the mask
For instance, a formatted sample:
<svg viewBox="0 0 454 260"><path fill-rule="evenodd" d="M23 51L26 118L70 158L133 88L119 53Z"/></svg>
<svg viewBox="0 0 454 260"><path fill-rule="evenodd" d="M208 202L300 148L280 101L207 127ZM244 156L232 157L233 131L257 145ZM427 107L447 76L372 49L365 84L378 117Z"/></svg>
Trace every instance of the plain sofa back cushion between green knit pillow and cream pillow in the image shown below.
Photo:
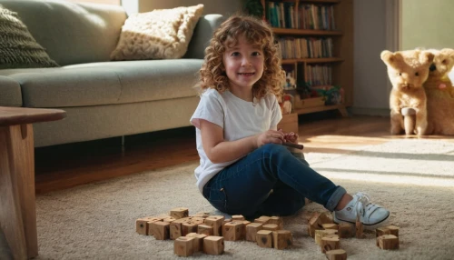
<svg viewBox="0 0 454 260"><path fill-rule="evenodd" d="M126 12L122 6L55 0L1 0L59 65L110 60Z"/></svg>

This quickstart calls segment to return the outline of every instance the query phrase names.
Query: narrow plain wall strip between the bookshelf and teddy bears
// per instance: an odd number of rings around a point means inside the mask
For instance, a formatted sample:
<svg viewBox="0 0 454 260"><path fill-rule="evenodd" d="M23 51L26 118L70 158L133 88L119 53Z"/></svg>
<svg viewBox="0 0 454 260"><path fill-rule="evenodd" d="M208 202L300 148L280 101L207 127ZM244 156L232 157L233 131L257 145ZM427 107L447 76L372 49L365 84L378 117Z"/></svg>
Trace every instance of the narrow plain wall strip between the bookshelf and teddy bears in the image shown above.
<svg viewBox="0 0 454 260"><path fill-rule="evenodd" d="M385 1L354 0L354 114L389 115Z"/></svg>

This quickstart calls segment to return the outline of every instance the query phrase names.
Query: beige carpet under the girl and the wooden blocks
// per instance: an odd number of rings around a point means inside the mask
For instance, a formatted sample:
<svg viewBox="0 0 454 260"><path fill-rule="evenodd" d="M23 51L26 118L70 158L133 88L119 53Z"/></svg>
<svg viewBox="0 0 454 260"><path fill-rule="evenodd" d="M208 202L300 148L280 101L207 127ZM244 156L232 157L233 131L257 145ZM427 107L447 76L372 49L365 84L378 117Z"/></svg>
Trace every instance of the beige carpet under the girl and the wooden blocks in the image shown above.
<svg viewBox="0 0 454 260"><path fill-rule="evenodd" d="M355 148L357 149L357 148ZM349 259L453 259L454 144L408 139L365 146L349 155L307 154L312 167L350 192L364 191L386 205L400 226L400 250L384 251L374 234L343 239ZM40 255L37 259L176 259L173 241L137 235L135 219L185 206L213 211L199 194L195 163L84 185L37 196ZM311 204L284 218L291 249L264 249L251 242L226 242L220 259L325 259L307 235L306 217L323 211ZM197 254L198 258L213 258ZM180 258L181 259L181 258Z"/></svg>

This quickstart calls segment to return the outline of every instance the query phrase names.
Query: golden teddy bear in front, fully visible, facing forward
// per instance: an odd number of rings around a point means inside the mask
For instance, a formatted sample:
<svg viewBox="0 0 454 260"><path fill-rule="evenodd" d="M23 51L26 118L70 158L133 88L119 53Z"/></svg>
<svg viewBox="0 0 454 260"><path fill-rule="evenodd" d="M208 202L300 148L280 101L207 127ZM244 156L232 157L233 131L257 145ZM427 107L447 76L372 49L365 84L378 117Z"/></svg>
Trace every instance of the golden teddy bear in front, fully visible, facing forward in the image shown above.
<svg viewBox="0 0 454 260"><path fill-rule="evenodd" d="M391 135L425 135L427 129L427 97L423 83L429 76L434 55L422 50L392 53L384 50L381 60L387 65L392 84L390 93ZM414 129L405 128L402 108L412 108L415 114ZM410 125L410 124L407 124Z"/></svg>

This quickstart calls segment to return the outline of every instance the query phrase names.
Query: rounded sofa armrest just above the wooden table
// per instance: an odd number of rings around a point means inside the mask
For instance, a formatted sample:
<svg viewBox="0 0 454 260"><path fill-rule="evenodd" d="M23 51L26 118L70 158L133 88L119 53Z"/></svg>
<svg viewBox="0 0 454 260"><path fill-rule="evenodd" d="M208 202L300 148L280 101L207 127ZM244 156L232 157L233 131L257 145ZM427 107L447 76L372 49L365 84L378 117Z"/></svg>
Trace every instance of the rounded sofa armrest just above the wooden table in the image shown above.
<svg viewBox="0 0 454 260"><path fill-rule="evenodd" d="M0 106L22 106L21 85L9 76L0 75Z"/></svg>

